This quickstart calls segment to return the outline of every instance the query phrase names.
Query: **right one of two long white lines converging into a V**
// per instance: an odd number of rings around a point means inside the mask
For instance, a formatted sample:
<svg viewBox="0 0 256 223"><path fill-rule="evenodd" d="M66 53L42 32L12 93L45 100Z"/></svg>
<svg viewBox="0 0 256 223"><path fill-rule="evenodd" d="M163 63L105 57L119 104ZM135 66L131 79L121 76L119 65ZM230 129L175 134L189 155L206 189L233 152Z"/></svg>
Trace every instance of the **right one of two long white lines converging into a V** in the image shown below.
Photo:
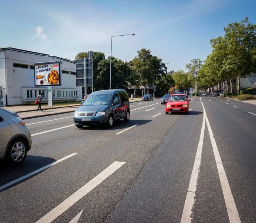
<svg viewBox="0 0 256 223"><path fill-rule="evenodd" d="M204 109L204 105L202 104L203 109ZM204 109L205 110L205 109ZM212 133L212 129L209 123L209 120L207 118L207 114L205 113L205 119L206 119L206 124L208 127L208 132L210 135L210 139L211 139L211 144L212 144L212 149L214 152L214 157L215 157L215 162L217 165L217 169L218 169L218 174L220 177L220 183L221 183L221 188L223 191L223 195L224 195L224 200L226 203L226 207L227 207L227 211L228 211L228 217L229 217L229 221L230 222L236 222L236 223L240 223L240 217L236 208L236 203L234 201L229 183L228 183L228 179L227 179L227 175L225 173L222 161L221 161L221 157L220 157L220 153L218 151L218 147L217 144L215 142L214 139L214 135Z"/></svg>

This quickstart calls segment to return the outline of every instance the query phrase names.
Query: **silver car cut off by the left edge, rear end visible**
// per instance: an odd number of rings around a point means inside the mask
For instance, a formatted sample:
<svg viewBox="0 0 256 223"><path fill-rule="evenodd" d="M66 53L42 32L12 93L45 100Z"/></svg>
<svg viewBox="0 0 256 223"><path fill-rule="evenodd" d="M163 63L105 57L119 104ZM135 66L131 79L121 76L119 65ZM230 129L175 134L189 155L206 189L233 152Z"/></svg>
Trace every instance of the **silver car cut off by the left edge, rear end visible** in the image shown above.
<svg viewBox="0 0 256 223"><path fill-rule="evenodd" d="M31 149L31 133L16 112L0 108L0 161L21 164Z"/></svg>

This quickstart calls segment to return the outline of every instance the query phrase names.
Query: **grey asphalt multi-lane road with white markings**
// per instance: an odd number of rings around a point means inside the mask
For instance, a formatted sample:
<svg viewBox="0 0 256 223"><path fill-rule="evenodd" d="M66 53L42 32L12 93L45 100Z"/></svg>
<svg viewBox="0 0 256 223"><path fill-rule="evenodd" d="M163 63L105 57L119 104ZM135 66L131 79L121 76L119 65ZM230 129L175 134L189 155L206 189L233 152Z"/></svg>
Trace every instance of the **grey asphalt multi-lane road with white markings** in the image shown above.
<svg viewBox="0 0 256 223"><path fill-rule="evenodd" d="M0 164L0 222L256 222L256 106L190 105L131 103L111 129L77 129L73 113L26 120L25 162Z"/></svg>

